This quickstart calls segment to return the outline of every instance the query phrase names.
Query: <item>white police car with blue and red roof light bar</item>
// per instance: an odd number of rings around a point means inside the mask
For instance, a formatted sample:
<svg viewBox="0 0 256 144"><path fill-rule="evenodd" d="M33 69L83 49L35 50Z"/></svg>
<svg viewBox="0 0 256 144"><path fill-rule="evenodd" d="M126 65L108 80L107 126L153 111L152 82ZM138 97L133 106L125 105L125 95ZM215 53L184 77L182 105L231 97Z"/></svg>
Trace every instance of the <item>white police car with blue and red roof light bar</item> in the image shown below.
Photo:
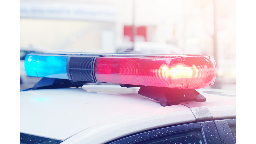
<svg viewBox="0 0 256 144"><path fill-rule="evenodd" d="M21 144L236 143L211 56L31 53L25 70L43 78L20 92Z"/></svg>

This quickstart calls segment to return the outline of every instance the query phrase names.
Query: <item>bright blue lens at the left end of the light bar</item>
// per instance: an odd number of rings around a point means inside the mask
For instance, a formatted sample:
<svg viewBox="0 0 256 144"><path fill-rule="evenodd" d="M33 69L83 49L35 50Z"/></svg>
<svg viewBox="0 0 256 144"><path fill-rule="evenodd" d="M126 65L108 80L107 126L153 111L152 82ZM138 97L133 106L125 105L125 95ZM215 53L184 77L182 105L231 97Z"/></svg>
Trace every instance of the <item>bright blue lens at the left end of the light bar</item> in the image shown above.
<svg viewBox="0 0 256 144"><path fill-rule="evenodd" d="M28 76L68 79L67 56L27 54L25 70Z"/></svg>

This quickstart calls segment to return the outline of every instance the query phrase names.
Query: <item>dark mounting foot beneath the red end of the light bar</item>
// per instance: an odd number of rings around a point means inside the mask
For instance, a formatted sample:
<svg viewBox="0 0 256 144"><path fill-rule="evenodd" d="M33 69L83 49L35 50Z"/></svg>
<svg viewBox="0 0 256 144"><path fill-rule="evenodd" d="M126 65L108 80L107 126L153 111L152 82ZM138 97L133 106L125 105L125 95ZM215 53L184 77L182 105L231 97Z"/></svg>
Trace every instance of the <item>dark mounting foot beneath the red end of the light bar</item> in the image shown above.
<svg viewBox="0 0 256 144"><path fill-rule="evenodd" d="M161 106L177 105L187 101L206 101L206 98L194 89L141 86L138 94L159 101Z"/></svg>

